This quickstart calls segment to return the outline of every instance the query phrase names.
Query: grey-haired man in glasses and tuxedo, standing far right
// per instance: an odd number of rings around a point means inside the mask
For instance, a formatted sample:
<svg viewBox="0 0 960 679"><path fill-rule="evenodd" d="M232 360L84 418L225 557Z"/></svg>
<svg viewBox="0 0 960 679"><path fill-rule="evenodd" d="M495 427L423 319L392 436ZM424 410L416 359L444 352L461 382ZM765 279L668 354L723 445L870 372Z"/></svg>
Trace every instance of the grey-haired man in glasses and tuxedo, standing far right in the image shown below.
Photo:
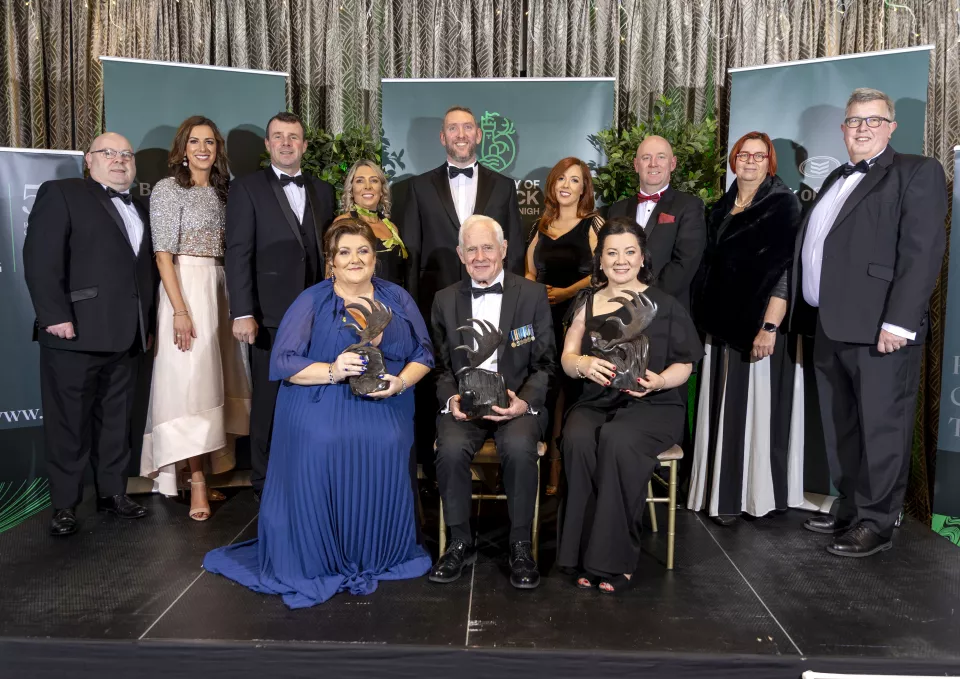
<svg viewBox="0 0 960 679"><path fill-rule="evenodd" d="M833 535L827 551L837 556L892 546L910 471L927 304L946 242L943 168L894 151L896 128L887 95L854 91L840 125L850 162L824 181L794 258L792 321L815 328L820 412L839 491L831 513L804 527Z"/></svg>

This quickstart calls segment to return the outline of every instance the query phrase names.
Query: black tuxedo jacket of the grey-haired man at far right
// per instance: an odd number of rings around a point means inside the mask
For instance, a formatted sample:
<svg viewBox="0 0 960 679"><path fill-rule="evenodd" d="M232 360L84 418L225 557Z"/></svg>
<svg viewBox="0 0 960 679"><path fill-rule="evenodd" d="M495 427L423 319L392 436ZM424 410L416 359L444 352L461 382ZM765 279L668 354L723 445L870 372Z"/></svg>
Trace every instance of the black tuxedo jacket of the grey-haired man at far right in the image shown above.
<svg viewBox="0 0 960 679"><path fill-rule="evenodd" d="M803 299L803 241L820 199L840 177L834 170L803 220L791 278L792 328L813 334L816 314ZM837 342L875 344L883 323L917 333L943 263L947 187L933 158L888 146L847 197L824 243L819 317Z"/></svg>

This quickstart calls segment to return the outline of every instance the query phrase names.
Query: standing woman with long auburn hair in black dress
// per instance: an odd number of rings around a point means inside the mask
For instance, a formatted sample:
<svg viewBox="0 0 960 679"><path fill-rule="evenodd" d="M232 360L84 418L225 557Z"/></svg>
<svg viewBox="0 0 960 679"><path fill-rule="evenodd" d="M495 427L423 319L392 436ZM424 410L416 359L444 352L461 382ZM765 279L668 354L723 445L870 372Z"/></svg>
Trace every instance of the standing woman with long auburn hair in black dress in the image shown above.
<svg viewBox="0 0 960 679"><path fill-rule="evenodd" d="M570 304L580 290L590 285L593 249L603 220L594 210L590 168L579 158L564 158L554 165L546 185L543 216L527 247L526 277L547 286L553 333L560 349L566 330L563 319ZM566 407L565 382L561 375L547 398L547 407L553 415L547 495L556 494L560 481L560 449L556 441Z"/></svg>

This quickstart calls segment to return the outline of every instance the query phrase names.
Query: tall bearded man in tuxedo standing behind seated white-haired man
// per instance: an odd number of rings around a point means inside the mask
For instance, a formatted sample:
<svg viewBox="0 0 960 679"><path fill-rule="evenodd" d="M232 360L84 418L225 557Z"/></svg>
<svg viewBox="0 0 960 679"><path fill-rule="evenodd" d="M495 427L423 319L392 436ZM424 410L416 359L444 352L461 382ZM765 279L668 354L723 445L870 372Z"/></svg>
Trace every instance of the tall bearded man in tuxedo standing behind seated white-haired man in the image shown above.
<svg viewBox="0 0 960 679"><path fill-rule="evenodd" d="M440 130L447 162L410 180L401 230L410 253L409 292L424 316L438 290L469 280L457 257L457 233L470 215L486 215L501 224L507 242L514 244L506 268L523 275L525 239L516 184L477 162L482 136L470 109L452 107Z"/></svg>

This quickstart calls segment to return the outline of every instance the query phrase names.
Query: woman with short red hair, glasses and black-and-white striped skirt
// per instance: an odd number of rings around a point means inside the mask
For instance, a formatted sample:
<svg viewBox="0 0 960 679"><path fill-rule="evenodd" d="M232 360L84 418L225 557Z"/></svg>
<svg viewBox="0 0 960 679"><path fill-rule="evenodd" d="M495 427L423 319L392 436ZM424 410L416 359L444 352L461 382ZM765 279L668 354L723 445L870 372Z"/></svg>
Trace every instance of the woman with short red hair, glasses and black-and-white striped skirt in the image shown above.
<svg viewBox="0 0 960 679"><path fill-rule="evenodd" d="M722 526L804 504L802 357L782 325L800 201L762 132L734 144L730 168L692 288L707 353L687 500Z"/></svg>

